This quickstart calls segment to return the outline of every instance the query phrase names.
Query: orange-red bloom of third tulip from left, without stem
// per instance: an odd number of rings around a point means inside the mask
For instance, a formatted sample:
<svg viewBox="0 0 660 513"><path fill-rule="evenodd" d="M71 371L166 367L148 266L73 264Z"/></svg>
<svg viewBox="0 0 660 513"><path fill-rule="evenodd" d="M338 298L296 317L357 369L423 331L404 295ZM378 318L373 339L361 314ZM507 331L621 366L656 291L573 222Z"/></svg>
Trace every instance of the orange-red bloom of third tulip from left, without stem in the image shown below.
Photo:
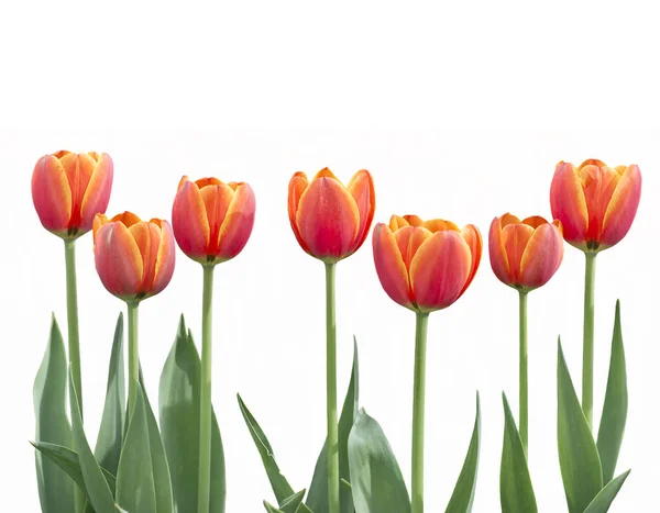
<svg viewBox="0 0 660 513"><path fill-rule="evenodd" d="M183 177L172 208L176 242L202 265L227 261L248 244L254 209L254 192L248 183Z"/></svg>

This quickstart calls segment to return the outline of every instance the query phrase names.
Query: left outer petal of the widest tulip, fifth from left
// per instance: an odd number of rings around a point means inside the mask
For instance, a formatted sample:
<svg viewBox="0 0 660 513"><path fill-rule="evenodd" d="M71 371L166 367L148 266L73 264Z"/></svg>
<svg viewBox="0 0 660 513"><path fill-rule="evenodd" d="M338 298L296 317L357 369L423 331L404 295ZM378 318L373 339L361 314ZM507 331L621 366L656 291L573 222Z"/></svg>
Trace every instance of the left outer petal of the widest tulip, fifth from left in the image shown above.
<svg viewBox="0 0 660 513"><path fill-rule="evenodd" d="M405 230L405 228L404 228ZM387 295L398 304L415 310L411 299L408 269L395 235L386 224L378 223L373 234L374 264L381 285Z"/></svg>

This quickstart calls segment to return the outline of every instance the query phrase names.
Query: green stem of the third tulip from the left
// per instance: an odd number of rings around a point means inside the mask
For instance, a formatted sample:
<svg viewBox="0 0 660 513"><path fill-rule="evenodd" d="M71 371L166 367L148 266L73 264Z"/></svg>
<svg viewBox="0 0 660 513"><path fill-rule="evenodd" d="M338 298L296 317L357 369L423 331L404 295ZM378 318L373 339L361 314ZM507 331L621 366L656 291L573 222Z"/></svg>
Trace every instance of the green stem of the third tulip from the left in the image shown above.
<svg viewBox="0 0 660 513"><path fill-rule="evenodd" d="M209 513L210 506L213 269L215 266L204 266L204 292L201 302L201 393L199 399L199 481L197 489L198 513Z"/></svg>

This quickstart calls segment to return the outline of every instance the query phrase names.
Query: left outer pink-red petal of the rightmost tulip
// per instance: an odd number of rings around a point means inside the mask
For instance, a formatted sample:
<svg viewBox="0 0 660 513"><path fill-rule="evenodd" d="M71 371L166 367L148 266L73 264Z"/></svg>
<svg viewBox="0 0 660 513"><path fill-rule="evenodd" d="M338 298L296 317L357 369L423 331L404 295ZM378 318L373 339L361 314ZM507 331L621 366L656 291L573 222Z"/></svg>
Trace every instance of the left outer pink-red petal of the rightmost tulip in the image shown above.
<svg viewBox="0 0 660 513"><path fill-rule="evenodd" d="M550 187L552 216L561 221L566 242L583 247L588 230L588 210L582 181L572 164L559 163Z"/></svg>

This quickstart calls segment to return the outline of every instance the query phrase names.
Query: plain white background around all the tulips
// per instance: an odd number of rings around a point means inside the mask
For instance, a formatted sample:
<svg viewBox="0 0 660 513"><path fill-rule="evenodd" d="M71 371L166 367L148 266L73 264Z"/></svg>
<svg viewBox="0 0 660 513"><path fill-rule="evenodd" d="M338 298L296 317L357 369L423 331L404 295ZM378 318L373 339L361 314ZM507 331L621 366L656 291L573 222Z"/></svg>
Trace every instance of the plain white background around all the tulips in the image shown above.
<svg viewBox="0 0 660 513"><path fill-rule="evenodd" d="M610 511L657 508L660 89L652 14L636 2L625 11L586 2L552 10L510 2L182 5L0 8L3 506L38 511L28 444L32 382L50 313L65 330L66 311L62 243L38 223L30 177L41 155L68 148L113 157L109 214L128 209L169 218L184 174L244 180L255 190L253 236L217 269L216 281L213 402L229 513L258 512L262 499L272 498L237 392L294 488L308 487L324 437L323 275L288 225L294 171L329 166L348 181L367 168L375 221L393 213L440 216L474 223L486 237L492 219L506 211L550 215L549 185L561 159L638 164L645 182L637 220L598 257L595 404L598 419L620 298L630 404L619 470L632 473ZM484 256L466 294L430 320L429 512L443 511L451 494L477 389L483 446L474 511L499 511L503 390L517 411L517 294ZM201 270L177 258L170 286L141 308L141 356L154 403L180 312L199 339ZM530 466L541 512L565 511L556 443L557 336L579 389L583 264L566 245L557 276L530 297ZM78 272L94 440L122 303L96 275L90 235L78 244ZM371 237L339 265L337 297L340 397L355 334L361 403L382 424L408 480L414 315L381 289Z"/></svg>

